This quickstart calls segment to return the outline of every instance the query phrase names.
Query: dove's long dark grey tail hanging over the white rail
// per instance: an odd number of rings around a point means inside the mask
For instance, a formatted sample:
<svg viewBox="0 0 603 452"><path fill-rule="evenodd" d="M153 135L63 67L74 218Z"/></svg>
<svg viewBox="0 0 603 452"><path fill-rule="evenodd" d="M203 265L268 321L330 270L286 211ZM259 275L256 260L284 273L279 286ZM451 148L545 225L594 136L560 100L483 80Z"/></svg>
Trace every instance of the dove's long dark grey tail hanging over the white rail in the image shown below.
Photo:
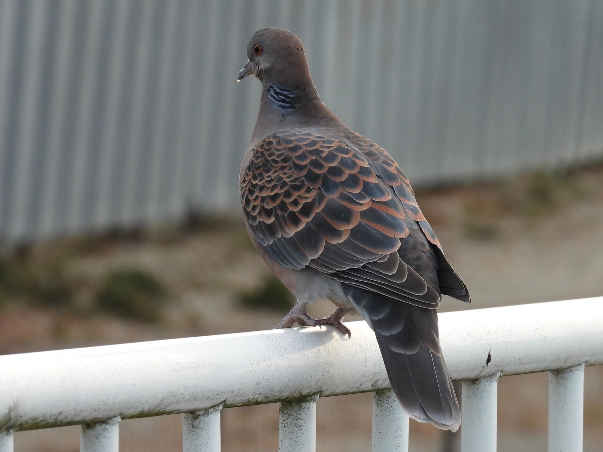
<svg viewBox="0 0 603 452"><path fill-rule="evenodd" d="M362 289L353 292L358 312L377 336L391 388L402 408L417 421L456 432L461 410L442 356L435 310Z"/></svg>

